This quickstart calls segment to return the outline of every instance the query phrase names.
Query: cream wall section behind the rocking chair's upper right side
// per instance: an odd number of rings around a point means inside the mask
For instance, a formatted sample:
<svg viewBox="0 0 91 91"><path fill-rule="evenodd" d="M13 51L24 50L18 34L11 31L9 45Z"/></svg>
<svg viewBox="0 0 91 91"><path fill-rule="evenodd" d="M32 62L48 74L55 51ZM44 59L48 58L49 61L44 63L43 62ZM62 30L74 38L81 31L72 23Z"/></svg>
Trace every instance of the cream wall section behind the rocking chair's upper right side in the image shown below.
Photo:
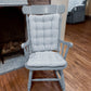
<svg viewBox="0 0 91 91"><path fill-rule="evenodd" d="M63 22L62 22L62 31L61 38L64 40L65 37L65 27L66 27L66 16L67 16L67 9L68 9L68 0L51 0L51 4L64 4L66 12L63 14Z"/></svg>

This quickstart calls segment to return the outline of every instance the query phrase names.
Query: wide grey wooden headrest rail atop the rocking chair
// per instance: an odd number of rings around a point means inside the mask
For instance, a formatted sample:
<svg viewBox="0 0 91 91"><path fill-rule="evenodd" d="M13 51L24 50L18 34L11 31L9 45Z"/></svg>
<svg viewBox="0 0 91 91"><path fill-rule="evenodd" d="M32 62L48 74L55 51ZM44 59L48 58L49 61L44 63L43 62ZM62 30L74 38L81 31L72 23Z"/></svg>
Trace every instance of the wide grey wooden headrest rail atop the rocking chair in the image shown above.
<svg viewBox="0 0 91 91"><path fill-rule="evenodd" d="M24 5L24 14L62 14L65 12L64 5Z"/></svg>

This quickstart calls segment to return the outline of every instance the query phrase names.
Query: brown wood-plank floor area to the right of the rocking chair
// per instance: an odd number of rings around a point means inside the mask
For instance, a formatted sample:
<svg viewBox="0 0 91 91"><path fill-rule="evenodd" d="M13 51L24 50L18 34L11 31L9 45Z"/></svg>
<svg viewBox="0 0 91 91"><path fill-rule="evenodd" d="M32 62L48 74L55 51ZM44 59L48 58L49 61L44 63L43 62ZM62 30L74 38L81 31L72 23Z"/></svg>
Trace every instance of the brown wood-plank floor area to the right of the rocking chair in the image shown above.
<svg viewBox="0 0 91 91"><path fill-rule="evenodd" d="M91 20L67 25L65 40L74 43L64 70L67 91L91 91Z"/></svg>

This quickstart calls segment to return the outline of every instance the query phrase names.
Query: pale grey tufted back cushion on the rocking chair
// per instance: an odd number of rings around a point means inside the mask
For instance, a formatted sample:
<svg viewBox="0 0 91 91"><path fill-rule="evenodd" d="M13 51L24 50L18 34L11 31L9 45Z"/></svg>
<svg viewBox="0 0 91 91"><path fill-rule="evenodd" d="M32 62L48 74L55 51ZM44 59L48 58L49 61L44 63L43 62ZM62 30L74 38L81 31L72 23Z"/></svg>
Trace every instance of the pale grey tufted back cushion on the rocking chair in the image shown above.
<svg viewBox="0 0 91 91"><path fill-rule="evenodd" d="M29 15L31 50L57 50L58 14Z"/></svg>

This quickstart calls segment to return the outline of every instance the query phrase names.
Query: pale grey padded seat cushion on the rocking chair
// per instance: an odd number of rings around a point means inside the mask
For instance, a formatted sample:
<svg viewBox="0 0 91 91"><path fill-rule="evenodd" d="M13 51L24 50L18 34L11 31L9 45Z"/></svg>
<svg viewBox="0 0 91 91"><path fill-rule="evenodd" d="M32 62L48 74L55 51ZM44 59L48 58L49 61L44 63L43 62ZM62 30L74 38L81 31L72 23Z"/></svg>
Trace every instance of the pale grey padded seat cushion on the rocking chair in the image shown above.
<svg viewBox="0 0 91 91"><path fill-rule="evenodd" d="M65 66L67 62L57 52L36 52L29 56L27 66Z"/></svg>

